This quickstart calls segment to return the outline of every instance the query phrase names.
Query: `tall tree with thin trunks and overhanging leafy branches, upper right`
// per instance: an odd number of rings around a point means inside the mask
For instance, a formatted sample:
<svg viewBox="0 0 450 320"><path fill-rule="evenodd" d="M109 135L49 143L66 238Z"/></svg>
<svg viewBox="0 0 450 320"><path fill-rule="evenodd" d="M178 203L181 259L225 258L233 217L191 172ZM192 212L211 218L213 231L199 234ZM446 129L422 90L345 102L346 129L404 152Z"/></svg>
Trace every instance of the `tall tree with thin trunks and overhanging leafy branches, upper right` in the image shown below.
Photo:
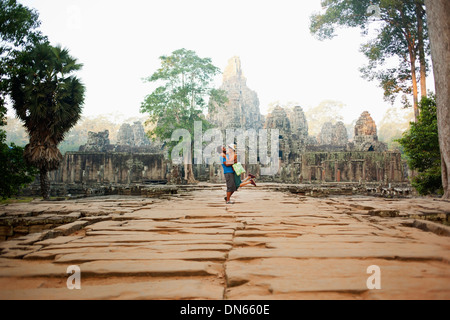
<svg viewBox="0 0 450 320"><path fill-rule="evenodd" d="M327 0L323 5L325 13L311 17L311 32L319 39L334 37L337 26L360 27L368 34L374 21L370 8L379 8L378 33L361 47L369 63L360 71L366 79L379 81L388 101L395 100L397 94L412 94L417 120L417 61L422 97L427 94L429 43L423 0ZM397 59L397 66L388 67L393 59Z"/></svg>

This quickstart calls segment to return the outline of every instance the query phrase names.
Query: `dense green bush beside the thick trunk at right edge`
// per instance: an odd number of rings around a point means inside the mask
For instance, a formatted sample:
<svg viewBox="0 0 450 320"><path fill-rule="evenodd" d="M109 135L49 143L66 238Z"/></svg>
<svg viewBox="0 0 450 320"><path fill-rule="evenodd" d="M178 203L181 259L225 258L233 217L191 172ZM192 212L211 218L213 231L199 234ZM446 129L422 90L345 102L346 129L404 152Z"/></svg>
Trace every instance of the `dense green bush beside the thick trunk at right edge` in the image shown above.
<svg viewBox="0 0 450 320"><path fill-rule="evenodd" d="M412 184L420 194L442 193L441 153L434 96L422 98L416 123L398 142L408 157L408 165L419 172Z"/></svg>

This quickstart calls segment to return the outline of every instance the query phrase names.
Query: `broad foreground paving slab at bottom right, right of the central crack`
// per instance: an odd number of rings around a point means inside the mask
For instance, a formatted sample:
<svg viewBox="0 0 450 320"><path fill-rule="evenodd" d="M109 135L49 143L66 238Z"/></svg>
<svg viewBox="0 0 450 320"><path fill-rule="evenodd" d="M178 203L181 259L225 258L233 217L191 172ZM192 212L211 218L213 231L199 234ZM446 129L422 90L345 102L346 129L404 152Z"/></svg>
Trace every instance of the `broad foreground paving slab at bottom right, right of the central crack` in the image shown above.
<svg viewBox="0 0 450 320"><path fill-rule="evenodd" d="M367 267L382 270L381 290L369 290ZM405 273L409 281L404 283ZM228 299L299 299L335 292L354 298L448 299L448 266L384 259L270 258L227 264ZM254 288L260 290L255 294ZM401 293L405 290L403 293Z"/></svg>

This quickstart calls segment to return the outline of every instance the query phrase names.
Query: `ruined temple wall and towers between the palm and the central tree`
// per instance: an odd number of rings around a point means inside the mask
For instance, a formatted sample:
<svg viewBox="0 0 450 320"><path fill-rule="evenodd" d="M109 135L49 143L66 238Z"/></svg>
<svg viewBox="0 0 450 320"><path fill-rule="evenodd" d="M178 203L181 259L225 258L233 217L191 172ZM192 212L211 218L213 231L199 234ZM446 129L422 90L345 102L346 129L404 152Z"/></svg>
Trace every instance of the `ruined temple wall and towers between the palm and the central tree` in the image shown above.
<svg viewBox="0 0 450 320"><path fill-rule="evenodd" d="M118 141L111 144L108 130L89 132L78 152L67 152L54 182L69 184L132 184L166 179L160 143L152 143L140 122L123 124Z"/></svg>

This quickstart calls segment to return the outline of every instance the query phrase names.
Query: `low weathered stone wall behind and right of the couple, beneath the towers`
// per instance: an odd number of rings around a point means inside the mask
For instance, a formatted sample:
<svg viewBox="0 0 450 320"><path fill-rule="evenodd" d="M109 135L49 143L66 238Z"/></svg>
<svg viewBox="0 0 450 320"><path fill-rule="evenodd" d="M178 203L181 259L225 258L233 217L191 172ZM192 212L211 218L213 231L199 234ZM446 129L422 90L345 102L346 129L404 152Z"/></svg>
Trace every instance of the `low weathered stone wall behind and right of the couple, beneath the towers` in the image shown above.
<svg viewBox="0 0 450 320"><path fill-rule="evenodd" d="M398 152L305 152L300 161L280 161L278 173L261 176L260 165L244 165L261 182L278 183L406 183L408 172ZM199 181L223 183L220 165L195 165L194 174Z"/></svg>

